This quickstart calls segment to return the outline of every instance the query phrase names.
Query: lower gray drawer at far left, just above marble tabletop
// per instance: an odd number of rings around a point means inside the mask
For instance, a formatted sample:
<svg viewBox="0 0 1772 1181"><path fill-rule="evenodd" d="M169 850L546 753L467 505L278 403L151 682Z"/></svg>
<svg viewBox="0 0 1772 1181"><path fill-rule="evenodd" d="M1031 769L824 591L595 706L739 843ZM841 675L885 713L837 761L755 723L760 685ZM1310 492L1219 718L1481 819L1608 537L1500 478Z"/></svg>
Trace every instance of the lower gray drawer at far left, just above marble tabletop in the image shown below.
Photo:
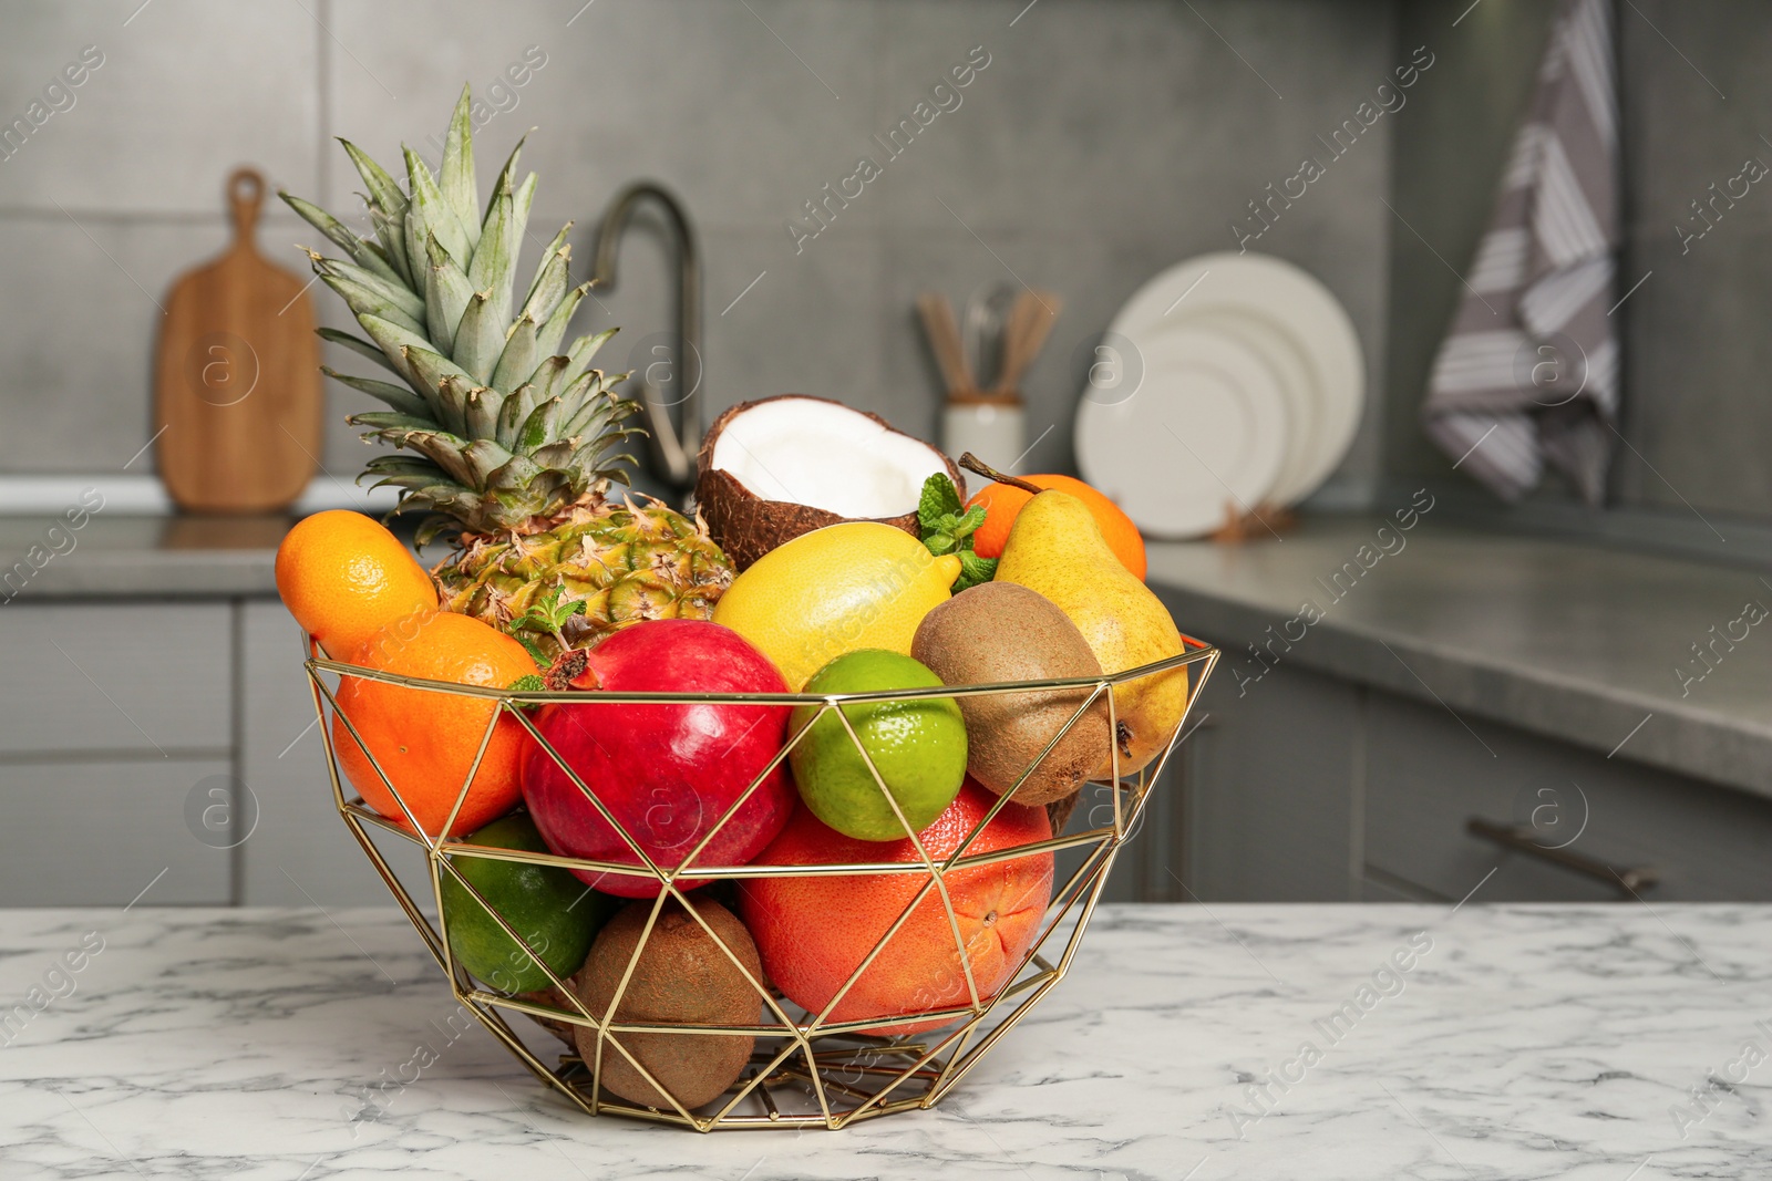
<svg viewBox="0 0 1772 1181"><path fill-rule="evenodd" d="M225 760L0 763L0 905L128 905L161 869L142 905L227 903L227 841L186 825L193 790L200 814L227 772Z"/></svg>

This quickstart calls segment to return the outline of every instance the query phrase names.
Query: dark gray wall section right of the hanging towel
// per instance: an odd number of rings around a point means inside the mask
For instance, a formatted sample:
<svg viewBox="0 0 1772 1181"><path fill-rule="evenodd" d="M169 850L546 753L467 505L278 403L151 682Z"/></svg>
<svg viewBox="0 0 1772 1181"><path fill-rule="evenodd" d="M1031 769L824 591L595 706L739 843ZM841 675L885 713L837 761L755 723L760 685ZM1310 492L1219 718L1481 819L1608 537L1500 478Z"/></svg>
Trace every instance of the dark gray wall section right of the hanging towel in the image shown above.
<svg viewBox="0 0 1772 1181"><path fill-rule="evenodd" d="M1625 434L1641 457L1614 469L1621 501L1689 513L1772 515L1772 177L1715 227L1690 202L1772 166L1772 5L1634 0L1623 18L1625 283L1650 280L1627 315ZM1737 189L1740 186L1737 184Z"/></svg>

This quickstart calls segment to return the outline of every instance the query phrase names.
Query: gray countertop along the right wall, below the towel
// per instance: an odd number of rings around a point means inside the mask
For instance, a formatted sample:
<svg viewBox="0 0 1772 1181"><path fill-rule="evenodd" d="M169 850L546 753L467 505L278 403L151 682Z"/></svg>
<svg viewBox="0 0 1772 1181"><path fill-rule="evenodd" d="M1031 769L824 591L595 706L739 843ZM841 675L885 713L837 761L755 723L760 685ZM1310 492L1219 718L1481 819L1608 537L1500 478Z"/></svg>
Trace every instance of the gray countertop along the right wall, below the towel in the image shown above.
<svg viewBox="0 0 1772 1181"><path fill-rule="evenodd" d="M1426 512L1154 544L1148 581L1224 650L1209 694L1304 668L1772 797L1772 581L1751 568Z"/></svg>

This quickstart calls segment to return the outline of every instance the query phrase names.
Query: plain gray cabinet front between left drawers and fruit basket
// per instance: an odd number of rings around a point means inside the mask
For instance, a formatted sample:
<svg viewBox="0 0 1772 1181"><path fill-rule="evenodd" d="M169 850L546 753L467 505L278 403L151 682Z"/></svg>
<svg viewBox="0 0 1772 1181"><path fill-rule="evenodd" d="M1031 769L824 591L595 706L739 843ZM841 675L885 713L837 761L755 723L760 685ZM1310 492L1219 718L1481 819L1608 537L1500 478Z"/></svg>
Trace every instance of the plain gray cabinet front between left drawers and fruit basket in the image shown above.
<svg viewBox="0 0 1772 1181"><path fill-rule="evenodd" d="M259 823L241 846L246 905L383 905L388 891L333 806L301 668L301 629L284 604L241 606L241 779ZM399 850L420 861L413 846Z"/></svg>

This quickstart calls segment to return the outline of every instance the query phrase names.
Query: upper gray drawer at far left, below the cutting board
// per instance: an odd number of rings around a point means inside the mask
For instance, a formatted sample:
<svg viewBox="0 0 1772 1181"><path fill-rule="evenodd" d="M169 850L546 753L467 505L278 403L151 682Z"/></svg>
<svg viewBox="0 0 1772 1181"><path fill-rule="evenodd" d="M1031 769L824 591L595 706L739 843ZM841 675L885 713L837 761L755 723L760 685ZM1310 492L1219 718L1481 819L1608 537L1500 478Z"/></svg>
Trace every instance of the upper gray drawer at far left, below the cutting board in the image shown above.
<svg viewBox="0 0 1772 1181"><path fill-rule="evenodd" d="M0 609L0 756L230 744L225 604Z"/></svg>

